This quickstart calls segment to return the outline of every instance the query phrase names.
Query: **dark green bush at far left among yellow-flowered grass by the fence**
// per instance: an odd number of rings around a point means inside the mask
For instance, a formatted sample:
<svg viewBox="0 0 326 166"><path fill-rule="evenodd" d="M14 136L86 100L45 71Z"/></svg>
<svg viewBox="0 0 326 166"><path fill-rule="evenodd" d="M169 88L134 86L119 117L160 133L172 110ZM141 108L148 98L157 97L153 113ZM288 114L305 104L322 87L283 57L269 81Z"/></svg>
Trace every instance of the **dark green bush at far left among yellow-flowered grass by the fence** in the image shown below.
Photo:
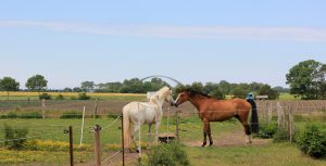
<svg viewBox="0 0 326 166"><path fill-rule="evenodd" d="M12 128L9 125L4 125L4 145L10 150L21 150L26 142L26 136L28 133L27 128Z"/></svg>

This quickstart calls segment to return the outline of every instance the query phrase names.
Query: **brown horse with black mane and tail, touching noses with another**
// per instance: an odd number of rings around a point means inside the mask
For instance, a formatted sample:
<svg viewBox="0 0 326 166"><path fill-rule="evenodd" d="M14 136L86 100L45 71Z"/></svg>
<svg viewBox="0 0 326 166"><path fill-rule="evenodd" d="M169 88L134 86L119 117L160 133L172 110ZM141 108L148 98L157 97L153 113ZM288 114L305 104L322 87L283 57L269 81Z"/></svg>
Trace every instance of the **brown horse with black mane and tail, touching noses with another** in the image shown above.
<svg viewBox="0 0 326 166"><path fill-rule="evenodd" d="M213 144L211 137L210 122L224 122L236 117L244 127L247 135L247 142L251 143L250 140L250 127L248 125L248 115L252 110L252 128L258 128L256 107L253 100L246 101L244 99L229 99L229 100L217 100L210 95L196 92L192 90L181 91L175 102L175 106L189 101L198 110L199 116L203 122L203 143L202 146L206 145L206 135L209 135L210 145Z"/></svg>

